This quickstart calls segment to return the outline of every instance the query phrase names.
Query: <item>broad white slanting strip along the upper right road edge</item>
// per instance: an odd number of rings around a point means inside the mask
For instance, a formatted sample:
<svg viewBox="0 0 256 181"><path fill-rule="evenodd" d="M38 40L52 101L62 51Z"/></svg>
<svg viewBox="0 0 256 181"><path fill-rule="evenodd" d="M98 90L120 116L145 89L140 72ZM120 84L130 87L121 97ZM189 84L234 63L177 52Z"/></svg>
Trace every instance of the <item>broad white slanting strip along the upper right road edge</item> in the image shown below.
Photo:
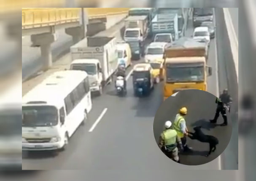
<svg viewBox="0 0 256 181"><path fill-rule="evenodd" d="M229 13L229 9L228 8L223 8L223 12L224 12L224 19L225 19L225 23L226 23L226 29L228 32L228 36L229 36L229 41L230 41L230 45L231 45L231 51L232 51L232 56L233 56L233 61L234 61L234 67L236 70L236 74L237 74L237 83L238 83L238 40L237 40L237 35L234 31L234 26L232 23L232 19Z"/></svg>

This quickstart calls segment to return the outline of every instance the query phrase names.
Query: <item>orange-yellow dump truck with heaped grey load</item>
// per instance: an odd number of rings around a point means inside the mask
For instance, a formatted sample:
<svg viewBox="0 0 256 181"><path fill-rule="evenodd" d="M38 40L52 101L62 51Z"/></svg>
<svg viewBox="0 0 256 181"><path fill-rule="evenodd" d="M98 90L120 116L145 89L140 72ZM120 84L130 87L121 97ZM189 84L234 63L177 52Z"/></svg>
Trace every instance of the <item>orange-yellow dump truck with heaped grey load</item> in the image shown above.
<svg viewBox="0 0 256 181"><path fill-rule="evenodd" d="M207 45L182 37L168 44L164 50L164 100L186 89L207 91L207 77L212 67L207 65Z"/></svg>

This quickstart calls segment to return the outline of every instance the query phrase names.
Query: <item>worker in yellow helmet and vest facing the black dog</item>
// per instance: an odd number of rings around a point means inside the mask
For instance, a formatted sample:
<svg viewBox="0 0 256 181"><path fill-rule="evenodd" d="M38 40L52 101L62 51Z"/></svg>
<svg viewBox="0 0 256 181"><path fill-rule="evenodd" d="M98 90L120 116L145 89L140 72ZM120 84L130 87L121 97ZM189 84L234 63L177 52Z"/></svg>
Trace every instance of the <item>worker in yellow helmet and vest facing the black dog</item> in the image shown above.
<svg viewBox="0 0 256 181"><path fill-rule="evenodd" d="M176 114L175 120L173 122L173 129L177 131L178 137L181 139L183 146L183 151L192 151L192 148L187 145L186 136L188 136L188 128L186 127L186 121L184 116L187 114L187 108L182 107L178 114Z"/></svg>

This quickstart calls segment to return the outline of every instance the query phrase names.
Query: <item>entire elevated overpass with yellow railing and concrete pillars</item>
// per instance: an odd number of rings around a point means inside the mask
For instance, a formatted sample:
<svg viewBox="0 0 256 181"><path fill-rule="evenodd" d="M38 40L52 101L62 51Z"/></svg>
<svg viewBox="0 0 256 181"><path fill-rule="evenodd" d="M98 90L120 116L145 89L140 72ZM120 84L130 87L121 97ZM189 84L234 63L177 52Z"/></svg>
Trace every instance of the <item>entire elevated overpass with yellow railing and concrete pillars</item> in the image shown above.
<svg viewBox="0 0 256 181"><path fill-rule="evenodd" d="M65 29L73 43L87 35L109 29L127 16L129 8L23 8L22 36L30 35L32 46L40 47L43 70L52 66L51 43L58 29Z"/></svg>

